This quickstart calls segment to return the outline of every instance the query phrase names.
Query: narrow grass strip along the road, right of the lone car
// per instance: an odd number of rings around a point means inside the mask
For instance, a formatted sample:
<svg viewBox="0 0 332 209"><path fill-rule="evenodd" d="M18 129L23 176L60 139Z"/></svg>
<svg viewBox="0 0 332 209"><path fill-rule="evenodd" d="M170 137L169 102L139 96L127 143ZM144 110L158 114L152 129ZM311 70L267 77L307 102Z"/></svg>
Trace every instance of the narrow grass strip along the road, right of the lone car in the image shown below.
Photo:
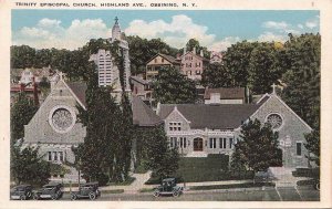
<svg viewBox="0 0 332 209"><path fill-rule="evenodd" d="M245 182L232 185L209 185L209 186L194 186L190 190L214 190L214 189L234 189L234 188L253 188L253 187L274 187L273 182Z"/></svg>

